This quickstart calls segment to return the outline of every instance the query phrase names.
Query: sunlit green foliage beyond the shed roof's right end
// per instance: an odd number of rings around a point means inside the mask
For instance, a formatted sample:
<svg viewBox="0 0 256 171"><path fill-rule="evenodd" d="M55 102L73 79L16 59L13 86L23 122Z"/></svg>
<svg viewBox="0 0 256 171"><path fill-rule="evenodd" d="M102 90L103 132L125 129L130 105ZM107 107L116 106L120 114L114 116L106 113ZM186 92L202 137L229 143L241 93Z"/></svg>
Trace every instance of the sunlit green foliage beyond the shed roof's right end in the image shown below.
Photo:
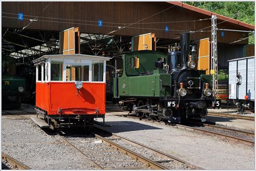
<svg viewBox="0 0 256 171"><path fill-rule="evenodd" d="M219 15L254 25L254 2L185 2ZM249 35L249 44L254 44L254 35Z"/></svg>

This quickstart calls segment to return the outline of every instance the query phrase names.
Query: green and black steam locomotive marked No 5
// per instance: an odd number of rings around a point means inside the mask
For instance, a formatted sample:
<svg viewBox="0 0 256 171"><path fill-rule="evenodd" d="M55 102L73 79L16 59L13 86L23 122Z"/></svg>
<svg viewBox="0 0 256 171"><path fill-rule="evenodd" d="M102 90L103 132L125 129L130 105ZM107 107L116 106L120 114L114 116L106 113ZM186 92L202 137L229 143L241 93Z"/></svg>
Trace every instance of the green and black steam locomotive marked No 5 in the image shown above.
<svg viewBox="0 0 256 171"><path fill-rule="evenodd" d="M194 117L205 122L207 108L219 107L212 95L211 75L194 69L196 64L189 58L190 34L180 37L181 52L123 54L122 73L113 79L114 98L121 108L140 118L180 122Z"/></svg>

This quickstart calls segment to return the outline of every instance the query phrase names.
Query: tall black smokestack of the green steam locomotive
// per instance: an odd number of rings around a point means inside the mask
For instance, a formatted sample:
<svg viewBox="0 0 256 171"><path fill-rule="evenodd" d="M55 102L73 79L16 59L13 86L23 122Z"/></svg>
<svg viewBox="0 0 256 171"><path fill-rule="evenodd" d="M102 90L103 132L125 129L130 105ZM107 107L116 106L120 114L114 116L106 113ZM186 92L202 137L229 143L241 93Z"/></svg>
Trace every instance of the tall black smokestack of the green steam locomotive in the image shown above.
<svg viewBox="0 0 256 171"><path fill-rule="evenodd" d="M181 69L187 68L188 55L190 52L190 33L180 33L181 46Z"/></svg>

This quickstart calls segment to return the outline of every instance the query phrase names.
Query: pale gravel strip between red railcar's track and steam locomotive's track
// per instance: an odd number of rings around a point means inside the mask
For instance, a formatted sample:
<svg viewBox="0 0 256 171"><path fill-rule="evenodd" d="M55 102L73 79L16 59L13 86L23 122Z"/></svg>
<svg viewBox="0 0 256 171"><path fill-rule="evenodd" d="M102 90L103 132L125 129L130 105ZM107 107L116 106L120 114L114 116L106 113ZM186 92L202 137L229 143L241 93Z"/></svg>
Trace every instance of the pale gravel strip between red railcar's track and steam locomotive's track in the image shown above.
<svg viewBox="0 0 256 171"><path fill-rule="evenodd" d="M111 113L113 114L113 113ZM106 115L104 129L205 169L254 169L254 147L175 127Z"/></svg>

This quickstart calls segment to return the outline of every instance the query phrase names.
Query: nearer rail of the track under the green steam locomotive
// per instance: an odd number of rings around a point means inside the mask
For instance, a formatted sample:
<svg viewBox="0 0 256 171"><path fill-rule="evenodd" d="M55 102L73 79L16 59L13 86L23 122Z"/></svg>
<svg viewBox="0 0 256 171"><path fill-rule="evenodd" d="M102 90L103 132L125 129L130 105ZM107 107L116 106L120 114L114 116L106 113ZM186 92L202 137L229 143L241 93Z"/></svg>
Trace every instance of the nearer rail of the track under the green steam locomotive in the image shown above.
<svg viewBox="0 0 256 171"><path fill-rule="evenodd" d="M116 115L116 116L118 116L118 115ZM125 116L125 117L132 118L132 119L139 119L138 117L132 117L132 116ZM233 137L233 136L226 136L225 134L221 134L221 133L205 131L205 130L197 129L197 128L190 127L190 126L180 125L180 124L172 124L172 123L166 123L166 122L155 122L154 120L147 120L147 119L142 119L142 120L144 122L151 122L151 123L158 123L158 124L177 126L177 127L181 128L181 129L184 129L184 130L189 130L189 131L193 131L193 132L199 132L199 133L207 134L207 135L210 135L210 136L216 136L216 137L220 137L220 138L225 138L225 139L232 140L232 141L235 141L235 142L238 142L238 143L244 143L244 144L247 144L247 145L254 146L254 142L253 141L245 140L245 139L241 139L241 138L237 138L237 137Z"/></svg>

